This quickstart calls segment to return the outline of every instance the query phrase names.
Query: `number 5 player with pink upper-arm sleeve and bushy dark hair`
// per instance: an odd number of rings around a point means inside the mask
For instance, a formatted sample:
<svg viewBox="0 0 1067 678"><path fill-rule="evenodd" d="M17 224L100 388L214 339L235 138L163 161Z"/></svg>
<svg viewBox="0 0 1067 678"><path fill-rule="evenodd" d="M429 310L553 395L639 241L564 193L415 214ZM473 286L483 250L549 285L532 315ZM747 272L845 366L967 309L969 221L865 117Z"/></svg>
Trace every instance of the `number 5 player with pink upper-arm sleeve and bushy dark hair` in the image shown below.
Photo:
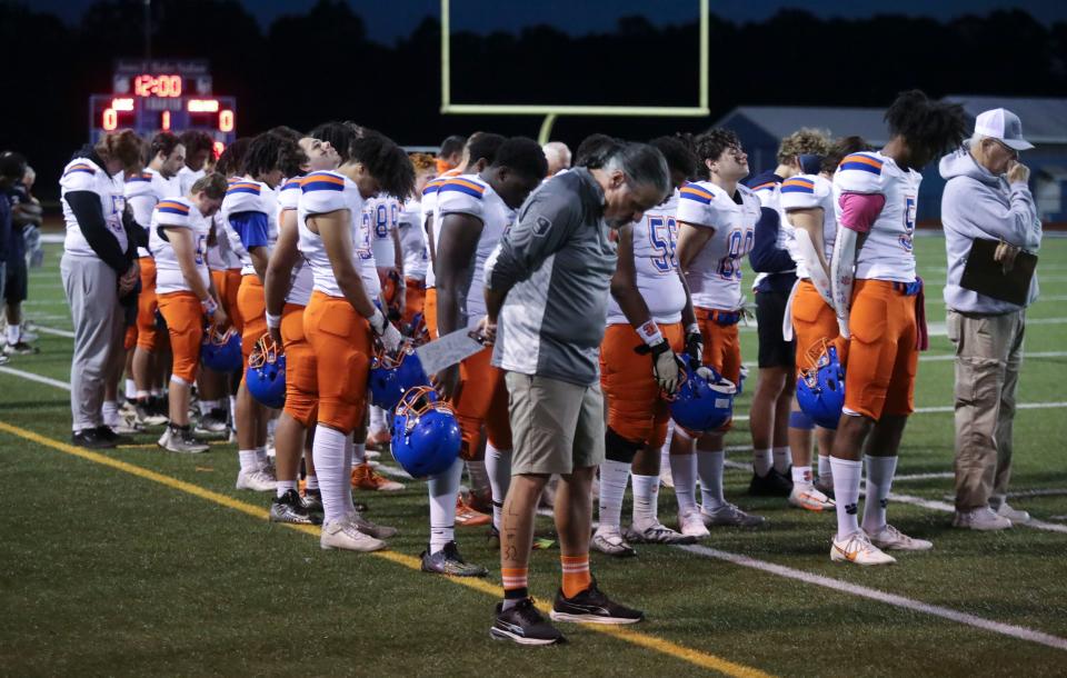
<svg viewBox="0 0 1067 678"><path fill-rule="evenodd" d="M886 505L913 395L918 350L927 341L923 280L915 275L919 170L965 137L963 108L903 92L886 111L889 142L880 151L846 156L834 176L837 239L830 290L841 337L849 340L845 407L830 465L837 535L830 559L857 565L895 562L886 550L933 548L886 521ZM858 520L860 456L867 493Z"/></svg>

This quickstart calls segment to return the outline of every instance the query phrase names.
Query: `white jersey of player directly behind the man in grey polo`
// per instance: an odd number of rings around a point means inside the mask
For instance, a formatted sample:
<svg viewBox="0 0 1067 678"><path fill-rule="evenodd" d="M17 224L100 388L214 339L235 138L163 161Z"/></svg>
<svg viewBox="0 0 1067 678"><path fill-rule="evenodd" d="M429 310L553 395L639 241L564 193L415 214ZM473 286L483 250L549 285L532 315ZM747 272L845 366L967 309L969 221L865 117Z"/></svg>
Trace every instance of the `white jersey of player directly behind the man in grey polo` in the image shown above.
<svg viewBox="0 0 1067 678"><path fill-rule="evenodd" d="M485 270L486 260L497 243L515 221L515 210L505 203L492 187L478 175L460 175L441 183L437 192L437 212L433 226L440 235L439 225L443 225L449 215L469 215L482 223L475 259L471 262L471 277L467 287L466 300L460 312L467 317L467 326L473 328L486 315ZM448 233L445 233L448 237ZM436 242L436 240L435 240Z"/></svg>

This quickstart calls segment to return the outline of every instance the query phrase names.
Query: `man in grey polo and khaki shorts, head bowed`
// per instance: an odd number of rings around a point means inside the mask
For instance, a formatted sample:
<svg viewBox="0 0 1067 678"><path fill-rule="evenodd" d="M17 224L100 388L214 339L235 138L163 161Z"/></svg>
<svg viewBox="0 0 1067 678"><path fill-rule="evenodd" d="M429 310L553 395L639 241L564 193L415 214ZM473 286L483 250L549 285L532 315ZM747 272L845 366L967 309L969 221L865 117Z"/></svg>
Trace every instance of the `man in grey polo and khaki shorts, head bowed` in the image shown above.
<svg viewBox="0 0 1067 678"><path fill-rule="evenodd" d="M493 638L521 645L564 639L527 590L535 512L552 473L561 477L555 508L564 581L551 618L644 619L641 611L609 600L589 574L592 478L604 460L598 356L615 273L614 231L639 220L669 190L658 150L612 144L591 167L536 190L486 262L482 331L496 337L493 365L507 370L515 441L500 529L505 600L497 606Z"/></svg>

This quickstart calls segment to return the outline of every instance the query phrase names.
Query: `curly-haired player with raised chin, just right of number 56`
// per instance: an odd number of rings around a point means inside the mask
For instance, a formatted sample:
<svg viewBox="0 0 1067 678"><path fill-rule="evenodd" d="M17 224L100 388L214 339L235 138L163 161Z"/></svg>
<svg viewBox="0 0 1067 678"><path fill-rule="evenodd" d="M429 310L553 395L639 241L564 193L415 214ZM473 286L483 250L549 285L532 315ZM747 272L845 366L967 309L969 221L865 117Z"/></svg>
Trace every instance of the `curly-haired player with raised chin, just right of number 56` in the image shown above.
<svg viewBox="0 0 1067 678"><path fill-rule="evenodd" d="M741 265L752 249L759 200L741 179L748 176L748 156L737 134L712 128L695 139L707 180L681 188L678 199L678 266L692 297L699 336L687 330L686 345L701 345L701 362L732 383L738 382L741 346ZM696 441L680 426L671 440L670 470L684 535L707 537L707 526L752 527L762 522L722 497L722 439L730 422ZM696 455L694 455L696 442ZM701 503L697 506L696 479Z"/></svg>

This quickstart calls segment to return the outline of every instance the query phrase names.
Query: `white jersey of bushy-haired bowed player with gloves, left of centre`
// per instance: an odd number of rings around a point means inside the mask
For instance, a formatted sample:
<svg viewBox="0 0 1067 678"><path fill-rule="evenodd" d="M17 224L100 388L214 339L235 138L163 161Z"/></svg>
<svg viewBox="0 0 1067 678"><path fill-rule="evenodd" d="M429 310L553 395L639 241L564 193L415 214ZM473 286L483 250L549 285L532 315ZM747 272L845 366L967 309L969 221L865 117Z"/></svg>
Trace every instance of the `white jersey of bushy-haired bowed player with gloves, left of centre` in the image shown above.
<svg viewBox="0 0 1067 678"><path fill-rule="evenodd" d="M326 253L322 238L308 228L309 216L323 215L337 210L349 211L352 236L352 258L356 270L363 281L363 289L370 299L377 299L381 293L381 282L378 279L378 269L375 257L370 251L370 232L363 228L363 198L359 187L348 177L338 172L311 172L300 182L301 196L297 212L297 226L300 228L299 248L311 267L313 289L331 297L343 297L341 288L337 286L333 267Z"/></svg>

